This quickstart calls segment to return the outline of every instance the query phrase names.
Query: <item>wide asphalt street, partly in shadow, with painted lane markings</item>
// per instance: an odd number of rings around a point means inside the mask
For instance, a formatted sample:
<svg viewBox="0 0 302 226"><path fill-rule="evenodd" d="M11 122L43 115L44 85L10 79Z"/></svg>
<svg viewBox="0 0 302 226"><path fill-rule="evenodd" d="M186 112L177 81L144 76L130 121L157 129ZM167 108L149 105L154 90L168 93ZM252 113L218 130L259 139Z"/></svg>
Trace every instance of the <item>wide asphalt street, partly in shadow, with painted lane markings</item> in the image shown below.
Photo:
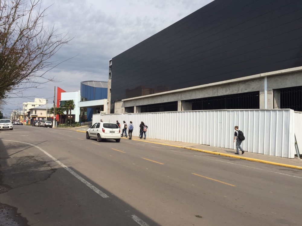
<svg viewBox="0 0 302 226"><path fill-rule="evenodd" d="M302 222L301 170L148 139L98 143L85 133L18 125L0 132L9 190L0 202L18 208L28 225Z"/></svg>

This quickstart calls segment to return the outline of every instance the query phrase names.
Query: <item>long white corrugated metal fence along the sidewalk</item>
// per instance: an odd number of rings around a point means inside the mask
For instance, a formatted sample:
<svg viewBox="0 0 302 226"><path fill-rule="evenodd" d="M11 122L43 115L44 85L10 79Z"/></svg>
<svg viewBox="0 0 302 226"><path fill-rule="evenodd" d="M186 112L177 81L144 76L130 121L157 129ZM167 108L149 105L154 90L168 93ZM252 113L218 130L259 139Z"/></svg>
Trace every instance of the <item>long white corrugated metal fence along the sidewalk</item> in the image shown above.
<svg viewBox="0 0 302 226"><path fill-rule="evenodd" d="M103 121L129 124L133 122L133 136L139 136L139 125L148 126L146 137L187 143L205 144L236 149L233 143L234 126L238 125L246 140L242 147L248 152L294 158L294 121L302 114L290 109L175 111L156 113L128 113L93 115L93 123ZM298 130L298 129L296 129ZM302 141L302 132L298 136Z"/></svg>

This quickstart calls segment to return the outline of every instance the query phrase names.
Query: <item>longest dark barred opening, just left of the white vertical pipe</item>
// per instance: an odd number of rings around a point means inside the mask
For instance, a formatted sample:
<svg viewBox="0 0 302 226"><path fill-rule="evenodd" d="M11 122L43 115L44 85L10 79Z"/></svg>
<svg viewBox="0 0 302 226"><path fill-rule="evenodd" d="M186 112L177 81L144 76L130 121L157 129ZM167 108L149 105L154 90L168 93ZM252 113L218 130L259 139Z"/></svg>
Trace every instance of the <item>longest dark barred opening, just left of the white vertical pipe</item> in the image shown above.
<svg viewBox="0 0 302 226"><path fill-rule="evenodd" d="M186 100L184 111L218 109L259 109L259 91Z"/></svg>

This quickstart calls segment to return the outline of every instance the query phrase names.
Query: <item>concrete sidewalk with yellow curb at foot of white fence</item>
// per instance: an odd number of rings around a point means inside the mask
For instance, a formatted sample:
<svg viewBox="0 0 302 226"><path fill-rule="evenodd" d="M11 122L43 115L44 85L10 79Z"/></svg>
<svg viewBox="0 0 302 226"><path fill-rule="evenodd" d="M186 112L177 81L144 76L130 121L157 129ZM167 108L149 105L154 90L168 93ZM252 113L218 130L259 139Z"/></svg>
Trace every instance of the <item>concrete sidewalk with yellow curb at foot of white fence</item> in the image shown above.
<svg viewBox="0 0 302 226"><path fill-rule="evenodd" d="M56 128L56 129L63 129L63 130L72 130L76 132L83 132L85 133L88 127L82 127L82 128ZM121 139L127 139L125 137L122 137ZM146 143L156 143L156 144L162 144L166 146L173 146L173 147L179 147L199 152L205 152L209 154L214 155L221 155L226 156L230 158L236 158L236 159L244 159L248 161L253 162L262 162L265 164L271 164L271 165L278 165L278 166L284 166L289 168L295 168L295 169L302 169L302 159L295 157L294 159L288 159L288 158L282 158L282 157L276 157L276 156L269 156L269 155L263 155L258 153L252 153L252 152L245 152L243 155L235 155L236 150L234 149L226 149L226 148L218 148L218 147L212 147L208 145L202 145L202 144L193 144L193 143L184 143L184 142L178 142L178 141L169 141L169 140L159 140L159 139L151 139L146 138L146 140L140 139L139 137L133 137L132 140L137 140L141 142ZM240 152L241 153L241 152Z"/></svg>

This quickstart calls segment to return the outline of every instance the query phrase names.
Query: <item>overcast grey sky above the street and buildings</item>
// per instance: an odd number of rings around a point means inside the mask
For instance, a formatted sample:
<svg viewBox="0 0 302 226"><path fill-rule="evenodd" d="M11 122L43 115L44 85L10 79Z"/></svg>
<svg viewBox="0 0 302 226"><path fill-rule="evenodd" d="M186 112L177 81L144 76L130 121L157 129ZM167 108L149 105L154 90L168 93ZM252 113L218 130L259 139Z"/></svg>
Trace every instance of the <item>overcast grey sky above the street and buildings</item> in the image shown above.
<svg viewBox="0 0 302 226"><path fill-rule="evenodd" d="M44 0L44 23L58 33L75 36L52 60L72 58L46 76L56 76L60 83L46 83L23 93L30 98L12 98L0 109L9 114L22 103L36 98L53 101L54 86L67 92L80 90L85 80L108 81L108 61L139 42L163 30L213 0ZM23 112L22 112L23 114Z"/></svg>

